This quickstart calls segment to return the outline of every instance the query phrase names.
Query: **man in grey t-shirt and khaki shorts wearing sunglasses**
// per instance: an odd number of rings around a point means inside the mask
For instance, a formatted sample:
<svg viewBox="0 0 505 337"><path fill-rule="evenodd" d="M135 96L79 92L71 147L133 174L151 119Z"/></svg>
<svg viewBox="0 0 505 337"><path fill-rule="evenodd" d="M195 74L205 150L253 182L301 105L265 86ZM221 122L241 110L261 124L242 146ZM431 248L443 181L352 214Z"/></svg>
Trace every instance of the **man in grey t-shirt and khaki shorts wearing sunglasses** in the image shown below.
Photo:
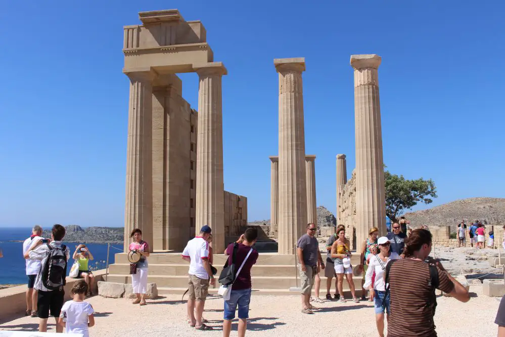
<svg viewBox="0 0 505 337"><path fill-rule="evenodd" d="M312 223L307 225L307 234L302 235L296 243L296 255L298 257L298 267L300 269L300 280L302 287L302 313L312 314L314 307L310 305L310 294L314 284L317 265L320 264L325 269L325 263L319 251L319 243L314 237L316 226Z"/></svg>

